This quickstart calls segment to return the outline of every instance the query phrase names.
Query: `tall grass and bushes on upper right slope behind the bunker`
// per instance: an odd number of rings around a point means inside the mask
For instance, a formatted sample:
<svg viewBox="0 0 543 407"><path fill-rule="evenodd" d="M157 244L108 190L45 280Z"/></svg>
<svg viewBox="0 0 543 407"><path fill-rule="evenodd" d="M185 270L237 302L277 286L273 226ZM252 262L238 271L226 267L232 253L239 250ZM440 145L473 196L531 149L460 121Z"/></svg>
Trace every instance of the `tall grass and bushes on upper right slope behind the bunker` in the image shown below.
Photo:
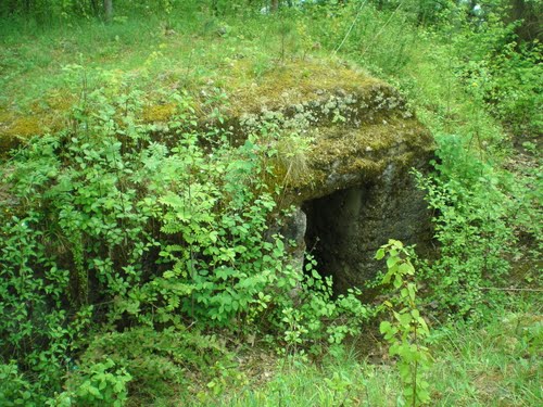
<svg viewBox="0 0 543 407"><path fill-rule="evenodd" d="M451 104L465 99L452 93L459 86L510 130L536 136L542 120L541 43L518 38L521 23L512 21L507 1L480 1L477 10L475 5L447 0L361 1L311 9L305 15L321 22L312 26L312 38L397 82L414 93L412 101L431 104L433 114L441 113L435 109L440 103L451 114ZM430 69L421 69L425 65ZM443 94L429 94L432 88Z"/></svg>

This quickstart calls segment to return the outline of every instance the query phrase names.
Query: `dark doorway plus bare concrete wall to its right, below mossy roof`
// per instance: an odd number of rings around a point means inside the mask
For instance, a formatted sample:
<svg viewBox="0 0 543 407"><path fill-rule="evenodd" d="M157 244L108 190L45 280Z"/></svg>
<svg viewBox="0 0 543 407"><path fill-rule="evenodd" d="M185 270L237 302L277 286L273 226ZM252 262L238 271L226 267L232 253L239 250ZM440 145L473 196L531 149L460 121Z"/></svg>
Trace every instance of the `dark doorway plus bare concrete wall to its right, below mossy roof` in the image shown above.
<svg viewBox="0 0 543 407"><path fill-rule="evenodd" d="M383 267L374 258L376 251L389 239L428 245L428 214L413 183L408 174L381 177L303 202L306 251L318 271L332 277L336 293L362 289L376 276Z"/></svg>

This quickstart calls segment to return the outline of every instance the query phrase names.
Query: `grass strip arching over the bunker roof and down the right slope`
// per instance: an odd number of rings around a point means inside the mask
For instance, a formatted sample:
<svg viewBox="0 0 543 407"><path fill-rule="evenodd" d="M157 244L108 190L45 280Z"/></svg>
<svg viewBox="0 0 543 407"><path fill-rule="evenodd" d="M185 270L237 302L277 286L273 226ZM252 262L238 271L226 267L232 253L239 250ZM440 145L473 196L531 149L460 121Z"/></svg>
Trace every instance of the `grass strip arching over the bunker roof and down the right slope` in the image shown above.
<svg viewBox="0 0 543 407"><path fill-rule="evenodd" d="M111 25L91 20L49 29L22 22L3 25L0 122L9 130L17 118L46 116L51 110L62 114L71 103L59 101L78 98L83 72L91 89L102 85L104 75L129 76L147 91L151 105L173 87L194 96L210 86L249 88L292 60L318 58L328 63L329 50L337 49L351 25L349 11L320 15L318 24L301 15L219 18L198 9L177 10L175 15L182 18L129 15ZM388 15L366 7L341 58L397 85L432 129L467 139L476 133L496 138L498 126L458 87L447 47L409 25L401 13ZM74 65L83 69L66 69Z"/></svg>

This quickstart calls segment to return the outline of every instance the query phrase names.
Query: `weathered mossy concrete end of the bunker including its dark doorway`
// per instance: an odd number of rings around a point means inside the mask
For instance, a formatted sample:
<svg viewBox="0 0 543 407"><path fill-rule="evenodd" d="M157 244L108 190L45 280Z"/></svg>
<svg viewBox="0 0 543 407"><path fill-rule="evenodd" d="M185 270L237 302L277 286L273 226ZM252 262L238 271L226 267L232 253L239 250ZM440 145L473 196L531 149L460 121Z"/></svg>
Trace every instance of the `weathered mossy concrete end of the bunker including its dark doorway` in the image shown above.
<svg viewBox="0 0 543 407"><path fill-rule="evenodd" d="M299 242L293 255L300 257L305 246L339 293L375 277L382 268L375 252L389 239L428 247L430 216L409 171L428 169L434 144L403 98L354 72L323 87L318 80L286 82L293 88L278 81L247 90L252 110L240 113L239 122L241 133L274 123L281 135L294 131L310 140L302 153L294 152L292 137L287 149L281 150L280 136L276 144L277 175L286 186L280 204L296 207L282 228L287 239ZM279 100L269 98L269 89Z"/></svg>

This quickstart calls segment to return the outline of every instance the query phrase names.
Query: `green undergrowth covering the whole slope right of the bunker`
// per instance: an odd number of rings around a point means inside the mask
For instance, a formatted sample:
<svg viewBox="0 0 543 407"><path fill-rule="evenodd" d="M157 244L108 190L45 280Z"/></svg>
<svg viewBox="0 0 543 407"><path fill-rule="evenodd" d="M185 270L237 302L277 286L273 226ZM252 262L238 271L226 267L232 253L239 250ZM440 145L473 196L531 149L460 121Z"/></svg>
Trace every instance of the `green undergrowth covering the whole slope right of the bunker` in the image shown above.
<svg viewBox="0 0 543 407"><path fill-rule="evenodd" d="M485 318L503 289L541 288L541 44L520 43L498 2L482 2L481 20L390 3L320 9L312 33L394 84L432 131L434 171L418 175L439 242L419 266L426 298L440 318Z"/></svg>

